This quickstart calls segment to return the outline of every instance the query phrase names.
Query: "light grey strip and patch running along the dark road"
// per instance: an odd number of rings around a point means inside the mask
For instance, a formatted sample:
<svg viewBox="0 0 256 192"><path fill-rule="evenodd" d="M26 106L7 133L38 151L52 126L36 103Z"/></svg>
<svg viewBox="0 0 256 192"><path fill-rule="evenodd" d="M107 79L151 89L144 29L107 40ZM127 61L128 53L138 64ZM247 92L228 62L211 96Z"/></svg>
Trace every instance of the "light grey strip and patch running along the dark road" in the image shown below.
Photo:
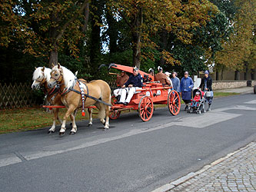
<svg viewBox="0 0 256 192"><path fill-rule="evenodd" d="M91 147L91 146L95 146L98 144L104 144L108 141L116 141L118 139L121 138L125 138L125 137L130 137L136 134L144 134L147 132L151 132L151 131L157 131L166 127L171 127L171 126L185 126L185 127L194 127L194 128L204 128L204 127L209 127L213 124L218 124L221 123L223 121L228 121L231 120L232 118L237 118L239 116L241 116L242 114L232 114L232 113L226 113L223 111L228 111L228 110L256 110L256 108L248 108L246 106L243 105L237 105L231 108L219 108L216 110L213 110L209 113L206 114L192 114L190 117L187 118L180 118L178 121L174 121L174 122L170 122L167 124L160 124L157 127L151 127L148 129L143 129L143 130L139 130L139 129L134 129L129 131L128 133L125 134L121 134L115 137L106 137L106 138L101 138L98 139L96 141L89 141L89 142L85 142L84 144L80 144L78 146L75 147L69 147L69 148L65 148L64 150L56 150L56 151L30 151L30 152L24 152L21 153L23 157L25 157L26 160L33 160L33 159L38 159L38 158L42 158L42 157L48 157L48 156L52 156L55 154L63 154L65 152L68 151L75 151L78 149L83 149L85 147ZM52 146L54 148L54 146ZM0 157L0 167L4 167L7 166L9 164L16 164L16 163L20 163L22 162L18 157L8 157L8 158L1 158Z"/></svg>

